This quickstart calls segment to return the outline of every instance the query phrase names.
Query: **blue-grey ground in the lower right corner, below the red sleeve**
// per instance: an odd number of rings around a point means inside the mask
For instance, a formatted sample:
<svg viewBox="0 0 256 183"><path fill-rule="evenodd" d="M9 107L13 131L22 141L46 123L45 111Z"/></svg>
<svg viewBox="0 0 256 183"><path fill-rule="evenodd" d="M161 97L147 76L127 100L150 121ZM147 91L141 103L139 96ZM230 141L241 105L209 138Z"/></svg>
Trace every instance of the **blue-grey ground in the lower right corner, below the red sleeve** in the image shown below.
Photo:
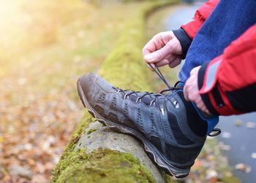
<svg viewBox="0 0 256 183"><path fill-rule="evenodd" d="M234 125L235 120L241 120L242 125ZM238 163L251 166L252 171L246 174L235 170L234 173L243 182L256 182L256 159L252 153L256 153L256 128L246 128L246 122L255 122L256 113L243 114L239 116L221 117L218 128L222 129L219 141L231 147L230 151L223 151L230 161L230 166L235 167ZM230 136L230 138L225 138Z"/></svg>

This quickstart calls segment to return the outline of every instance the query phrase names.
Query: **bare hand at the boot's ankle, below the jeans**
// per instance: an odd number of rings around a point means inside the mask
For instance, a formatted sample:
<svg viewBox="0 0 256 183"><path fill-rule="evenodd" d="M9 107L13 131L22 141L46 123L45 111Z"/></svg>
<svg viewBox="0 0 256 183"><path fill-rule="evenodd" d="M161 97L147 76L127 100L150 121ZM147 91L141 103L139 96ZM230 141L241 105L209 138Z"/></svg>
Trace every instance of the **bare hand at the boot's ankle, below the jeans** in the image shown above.
<svg viewBox="0 0 256 183"><path fill-rule="evenodd" d="M206 108L206 105L203 103L203 100L198 90L197 76L200 67L201 66L197 66L190 72L190 77L189 79L187 79L187 82L184 86L184 97L187 101L192 101L193 103L195 103L197 108L201 111L206 112L207 114L211 114Z"/></svg>

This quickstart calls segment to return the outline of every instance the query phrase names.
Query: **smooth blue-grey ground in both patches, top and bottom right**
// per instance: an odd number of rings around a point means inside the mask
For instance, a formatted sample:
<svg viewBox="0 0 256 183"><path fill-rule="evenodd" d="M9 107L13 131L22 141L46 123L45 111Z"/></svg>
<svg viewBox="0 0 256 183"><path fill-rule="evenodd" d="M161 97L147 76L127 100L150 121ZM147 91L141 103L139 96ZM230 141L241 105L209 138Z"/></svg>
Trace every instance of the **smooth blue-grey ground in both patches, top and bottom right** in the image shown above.
<svg viewBox="0 0 256 183"><path fill-rule="evenodd" d="M197 2L190 6L181 6L167 18L166 31L179 28L181 24L187 23L194 17L195 11L202 2ZM235 120L242 120L243 124L238 127L234 125ZM252 158L252 153L256 152L256 128L246 128L246 122L256 122L256 113L244 114L239 116L221 117L218 127L222 129L219 141L223 141L230 146L229 151L223 151L230 161L233 168L238 163L251 166L252 171L246 174L234 170L242 182L256 182L256 159ZM224 136L223 136L224 135ZM224 138L226 137L226 138ZM227 138L229 137L229 138Z"/></svg>

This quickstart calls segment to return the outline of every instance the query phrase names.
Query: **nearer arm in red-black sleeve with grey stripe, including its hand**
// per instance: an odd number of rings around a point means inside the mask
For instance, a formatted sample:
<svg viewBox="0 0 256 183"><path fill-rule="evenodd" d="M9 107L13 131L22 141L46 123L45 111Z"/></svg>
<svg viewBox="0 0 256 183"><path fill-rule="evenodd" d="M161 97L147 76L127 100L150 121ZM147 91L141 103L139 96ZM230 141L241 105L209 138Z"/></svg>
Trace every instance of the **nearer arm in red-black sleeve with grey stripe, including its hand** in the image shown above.
<svg viewBox="0 0 256 183"><path fill-rule="evenodd" d="M232 42L222 55L197 69L197 78L187 80L184 95L196 104L203 102L208 112L214 115L256 111L255 61L256 24ZM191 93L195 87L198 92Z"/></svg>

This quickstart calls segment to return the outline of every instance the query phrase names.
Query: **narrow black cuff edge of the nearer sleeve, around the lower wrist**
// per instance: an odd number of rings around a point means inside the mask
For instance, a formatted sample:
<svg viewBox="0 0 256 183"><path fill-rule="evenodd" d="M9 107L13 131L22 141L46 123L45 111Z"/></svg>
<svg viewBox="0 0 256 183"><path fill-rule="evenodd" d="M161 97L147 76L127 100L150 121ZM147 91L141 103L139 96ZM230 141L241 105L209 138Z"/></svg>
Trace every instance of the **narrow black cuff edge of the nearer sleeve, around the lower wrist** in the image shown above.
<svg viewBox="0 0 256 183"><path fill-rule="evenodd" d="M207 70L209 63L211 63L211 62L210 61L204 62L198 71L197 84L198 84L199 90L201 90L203 87L203 82L204 82L204 78L206 76L206 70ZM215 86L214 88L215 88L214 90L216 90L217 86ZM210 99L209 93L200 93L200 96L203 100L203 103L206 105L206 108L208 109L208 111L211 112L211 114L213 114L214 116L219 115L218 112L214 109L214 106L211 104L211 99Z"/></svg>

